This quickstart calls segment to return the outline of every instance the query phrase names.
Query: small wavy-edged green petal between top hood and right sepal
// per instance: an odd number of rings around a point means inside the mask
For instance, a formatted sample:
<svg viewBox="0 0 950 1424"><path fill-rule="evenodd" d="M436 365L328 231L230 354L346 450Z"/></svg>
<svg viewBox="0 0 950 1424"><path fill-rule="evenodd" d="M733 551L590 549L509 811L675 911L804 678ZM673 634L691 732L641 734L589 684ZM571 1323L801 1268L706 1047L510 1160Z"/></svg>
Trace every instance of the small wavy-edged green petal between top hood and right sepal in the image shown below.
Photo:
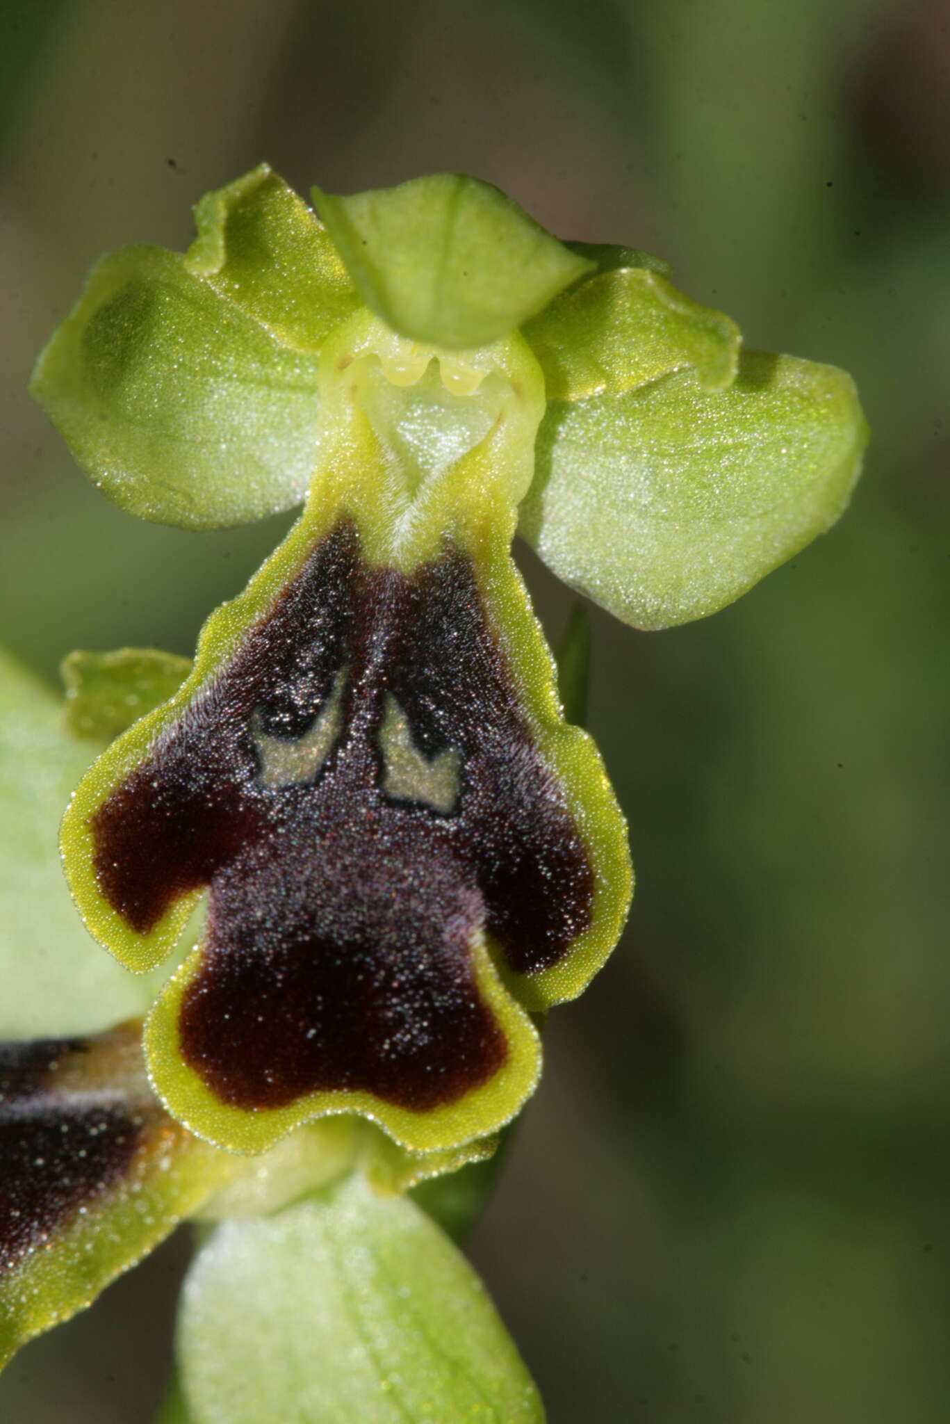
<svg viewBox="0 0 950 1424"><path fill-rule="evenodd" d="M601 272L563 292L524 335L551 400L617 396L687 367L706 390L722 390L735 379L741 342L728 316L642 266Z"/></svg>

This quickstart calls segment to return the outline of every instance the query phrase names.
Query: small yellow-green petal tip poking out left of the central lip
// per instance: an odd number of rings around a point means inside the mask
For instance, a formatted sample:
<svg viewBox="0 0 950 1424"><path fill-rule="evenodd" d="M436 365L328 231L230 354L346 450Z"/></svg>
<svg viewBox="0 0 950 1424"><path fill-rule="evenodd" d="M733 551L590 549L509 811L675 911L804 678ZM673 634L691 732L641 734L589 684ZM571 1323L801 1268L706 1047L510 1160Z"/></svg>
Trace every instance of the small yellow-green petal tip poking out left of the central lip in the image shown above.
<svg viewBox="0 0 950 1424"><path fill-rule="evenodd" d="M63 659L60 671L70 732L111 740L175 695L191 659L155 648L77 651Z"/></svg>

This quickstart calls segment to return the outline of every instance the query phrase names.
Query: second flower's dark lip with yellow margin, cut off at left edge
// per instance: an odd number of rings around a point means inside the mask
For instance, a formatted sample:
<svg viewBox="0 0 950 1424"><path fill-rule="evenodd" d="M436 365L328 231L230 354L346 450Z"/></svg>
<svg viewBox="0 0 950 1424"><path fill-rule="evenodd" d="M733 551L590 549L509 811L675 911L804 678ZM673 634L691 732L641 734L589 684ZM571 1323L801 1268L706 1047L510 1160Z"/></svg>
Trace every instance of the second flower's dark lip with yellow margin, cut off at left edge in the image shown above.
<svg viewBox="0 0 950 1424"><path fill-rule="evenodd" d="M0 1364L242 1169L164 1112L140 1034L0 1044Z"/></svg>

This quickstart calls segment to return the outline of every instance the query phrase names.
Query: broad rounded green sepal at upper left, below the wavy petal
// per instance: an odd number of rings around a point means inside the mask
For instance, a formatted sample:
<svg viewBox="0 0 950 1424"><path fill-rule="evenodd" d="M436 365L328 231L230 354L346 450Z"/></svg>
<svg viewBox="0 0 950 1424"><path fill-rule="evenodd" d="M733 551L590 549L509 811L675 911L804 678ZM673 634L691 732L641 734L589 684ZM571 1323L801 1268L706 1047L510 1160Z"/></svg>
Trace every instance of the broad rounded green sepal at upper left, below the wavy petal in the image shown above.
<svg viewBox="0 0 950 1424"><path fill-rule="evenodd" d="M316 357L161 248L95 265L30 386L115 504L216 528L296 504L318 443Z"/></svg>

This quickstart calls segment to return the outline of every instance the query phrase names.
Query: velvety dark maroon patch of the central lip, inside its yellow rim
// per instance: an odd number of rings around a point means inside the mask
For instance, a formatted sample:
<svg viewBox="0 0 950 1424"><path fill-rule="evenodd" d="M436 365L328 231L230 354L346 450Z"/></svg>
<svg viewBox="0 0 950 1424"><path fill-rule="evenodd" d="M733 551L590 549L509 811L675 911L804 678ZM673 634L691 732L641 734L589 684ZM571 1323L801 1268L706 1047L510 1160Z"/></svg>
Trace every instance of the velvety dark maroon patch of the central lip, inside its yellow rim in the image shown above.
<svg viewBox="0 0 950 1424"><path fill-rule="evenodd" d="M392 793L393 708L417 795ZM312 770L282 782L282 748L308 736ZM427 802L424 768L446 755L457 795ZM181 1051L241 1108L333 1089L457 1101L508 1051L476 980L479 933L531 974L591 917L590 856L471 560L447 547L412 577L370 567L349 520L91 827L100 889L140 933L211 887Z"/></svg>

